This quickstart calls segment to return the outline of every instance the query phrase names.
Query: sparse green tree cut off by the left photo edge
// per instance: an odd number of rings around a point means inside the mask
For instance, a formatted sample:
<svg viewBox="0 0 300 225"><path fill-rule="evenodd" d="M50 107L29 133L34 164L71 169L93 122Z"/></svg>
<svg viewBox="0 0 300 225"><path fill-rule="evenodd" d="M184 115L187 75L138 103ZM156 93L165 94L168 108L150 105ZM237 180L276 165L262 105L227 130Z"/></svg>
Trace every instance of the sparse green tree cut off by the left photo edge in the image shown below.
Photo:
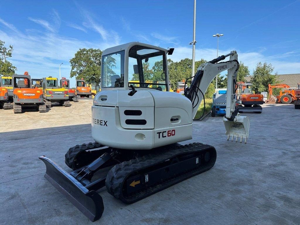
<svg viewBox="0 0 300 225"><path fill-rule="evenodd" d="M11 64L10 61L7 61L6 58L10 58L13 52L13 46L9 47L4 46L5 42L0 40L0 74L3 75L12 75L15 73L17 68Z"/></svg>

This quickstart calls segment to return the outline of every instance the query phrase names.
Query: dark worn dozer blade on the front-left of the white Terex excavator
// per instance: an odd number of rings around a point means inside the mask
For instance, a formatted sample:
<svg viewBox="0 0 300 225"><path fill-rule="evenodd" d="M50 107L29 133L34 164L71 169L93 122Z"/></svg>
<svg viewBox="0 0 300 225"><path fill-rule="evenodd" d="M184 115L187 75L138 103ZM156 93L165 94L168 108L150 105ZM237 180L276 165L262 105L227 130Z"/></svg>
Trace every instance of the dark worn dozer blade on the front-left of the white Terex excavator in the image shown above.
<svg viewBox="0 0 300 225"><path fill-rule="evenodd" d="M40 156L39 159L46 165L45 178L60 193L91 221L101 218L104 205L102 197L96 191L89 191L51 159L45 156Z"/></svg>

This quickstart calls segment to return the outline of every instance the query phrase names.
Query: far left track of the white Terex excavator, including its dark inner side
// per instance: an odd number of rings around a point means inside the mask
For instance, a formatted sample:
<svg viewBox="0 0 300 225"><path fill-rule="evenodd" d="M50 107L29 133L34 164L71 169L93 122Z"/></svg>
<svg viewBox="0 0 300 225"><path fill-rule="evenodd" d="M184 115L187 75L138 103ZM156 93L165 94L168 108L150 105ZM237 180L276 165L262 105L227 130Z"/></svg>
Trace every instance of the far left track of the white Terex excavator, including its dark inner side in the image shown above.
<svg viewBox="0 0 300 225"><path fill-rule="evenodd" d="M65 157L65 163L72 170L77 170L81 167L84 167L90 164L92 161L100 157L103 153L107 152L107 148L95 149L105 147L98 142L76 145L71 147ZM92 150L92 151L91 151Z"/></svg>

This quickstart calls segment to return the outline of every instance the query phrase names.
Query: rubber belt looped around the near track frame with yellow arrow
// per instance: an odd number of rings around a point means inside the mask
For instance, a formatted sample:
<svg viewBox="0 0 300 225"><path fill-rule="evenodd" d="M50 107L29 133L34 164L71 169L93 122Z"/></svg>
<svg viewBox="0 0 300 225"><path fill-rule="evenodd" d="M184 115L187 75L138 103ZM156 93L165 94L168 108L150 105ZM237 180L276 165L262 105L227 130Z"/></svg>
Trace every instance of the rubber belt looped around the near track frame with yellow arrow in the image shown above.
<svg viewBox="0 0 300 225"><path fill-rule="evenodd" d="M195 176L199 173L193 173L193 171L188 171L184 174L181 174L179 176L176 176L174 178L170 178L163 183L157 184L153 187L150 187L146 190L142 190L136 194L133 194L129 197L124 197L122 193L122 187L123 183L126 181L128 176L130 176L134 171L140 170L149 166L152 166L154 164L158 164L160 162L164 162L167 159L173 158L176 155L181 155L182 153L193 153L193 152L199 152L205 149L213 148L213 146L204 145L202 143L192 143L189 145L179 146L176 149L172 149L169 151L166 151L164 153L158 152L155 155L148 155L144 156L142 158L133 159L130 161L125 161L120 164L116 164L108 173L105 181L105 185L107 187L107 192L110 193L112 196L121 199L122 202L125 203L132 203L136 202L140 199L143 199L147 196L150 196L153 193L156 193L160 190L163 190L167 187L172 186L173 184L176 184L178 182L181 182L182 180L188 179L192 176ZM215 151L215 149L214 149ZM213 167L215 163L215 159L210 163L210 165L203 170L202 172L205 172L209 170L211 167ZM200 173L202 173L200 172Z"/></svg>

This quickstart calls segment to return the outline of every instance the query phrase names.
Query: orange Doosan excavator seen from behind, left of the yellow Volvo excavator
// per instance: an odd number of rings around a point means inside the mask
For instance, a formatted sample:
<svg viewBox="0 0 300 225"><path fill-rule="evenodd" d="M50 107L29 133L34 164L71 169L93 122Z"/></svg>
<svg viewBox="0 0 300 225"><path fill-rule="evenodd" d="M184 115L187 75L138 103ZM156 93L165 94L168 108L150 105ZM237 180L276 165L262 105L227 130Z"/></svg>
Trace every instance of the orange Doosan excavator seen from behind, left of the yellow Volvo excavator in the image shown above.
<svg viewBox="0 0 300 225"><path fill-rule="evenodd" d="M24 107L35 107L40 113L46 112L43 91L32 87L28 72L24 75L14 74L13 80L13 113L21 113Z"/></svg>

